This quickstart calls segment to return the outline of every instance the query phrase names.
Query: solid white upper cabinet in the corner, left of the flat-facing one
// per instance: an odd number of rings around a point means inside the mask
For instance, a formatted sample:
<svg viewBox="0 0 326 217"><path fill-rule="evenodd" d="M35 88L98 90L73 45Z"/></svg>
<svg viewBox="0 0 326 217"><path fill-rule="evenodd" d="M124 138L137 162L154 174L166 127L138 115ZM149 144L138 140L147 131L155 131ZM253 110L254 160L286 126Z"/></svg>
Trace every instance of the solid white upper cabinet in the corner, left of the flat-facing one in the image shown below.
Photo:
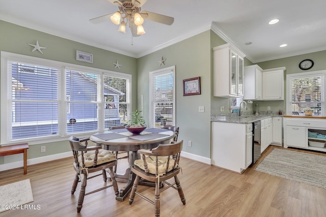
<svg viewBox="0 0 326 217"><path fill-rule="evenodd" d="M262 71L258 65L244 67L243 100L262 100Z"/></svg>

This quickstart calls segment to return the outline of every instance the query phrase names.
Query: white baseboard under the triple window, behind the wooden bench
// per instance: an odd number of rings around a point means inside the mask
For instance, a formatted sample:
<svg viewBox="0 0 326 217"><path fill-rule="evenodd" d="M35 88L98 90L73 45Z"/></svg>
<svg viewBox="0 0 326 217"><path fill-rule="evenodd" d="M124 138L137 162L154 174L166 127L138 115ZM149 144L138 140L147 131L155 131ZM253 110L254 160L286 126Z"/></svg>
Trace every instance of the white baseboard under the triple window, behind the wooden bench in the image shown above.
<svg viewBox="0 0 326 217"><path fill-rule="evenodd" d="M72 156L71 151L68 151L68 152L52 154L52 155L44 156L44 157L40 157L40 158L32 158L32 159L27 160L27 165L44 163L47 161L68 158L71 156ZM7 164L1 164L0 171L11 170L11 169L19 168L19 167L23 167L23 161L16 161L16 162L7 163ZM28 168L27 168L27 171L28 171Z"/></svg>

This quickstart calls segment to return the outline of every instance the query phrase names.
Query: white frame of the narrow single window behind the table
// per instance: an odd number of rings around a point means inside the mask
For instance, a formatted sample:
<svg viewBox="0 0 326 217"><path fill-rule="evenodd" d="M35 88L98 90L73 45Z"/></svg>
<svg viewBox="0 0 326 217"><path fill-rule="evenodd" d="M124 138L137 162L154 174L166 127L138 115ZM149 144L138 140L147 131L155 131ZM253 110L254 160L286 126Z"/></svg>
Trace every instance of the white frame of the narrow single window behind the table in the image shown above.
<svg viewBox="0 0 326 217"><path fill-rule="evenodd" d="M175 115L175 66L167 67L164 69L156 70L149 72L149 127L154 128L155 127L155 113L153 108L153 83L152 78L156 76L161 76L165 74L173 74L173 105L172 105L172 125L176 126L176 115Z"/></svg>

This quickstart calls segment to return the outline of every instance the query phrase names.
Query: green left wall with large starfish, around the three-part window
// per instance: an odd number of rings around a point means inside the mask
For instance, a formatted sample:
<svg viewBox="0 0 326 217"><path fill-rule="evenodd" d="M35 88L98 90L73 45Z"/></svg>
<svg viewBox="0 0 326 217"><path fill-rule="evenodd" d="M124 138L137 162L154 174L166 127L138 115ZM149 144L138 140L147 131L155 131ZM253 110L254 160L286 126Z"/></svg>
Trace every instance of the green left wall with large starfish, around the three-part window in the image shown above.
<svg viewBox="0 0 326 217"><path fill-rule="evenodd" d="M8 23L0 20L0 50L23 55L35 56L39 58L61 61L64 63L82 65L97 69L110 70L132 75L132 108L137 107L137 59L104 49L92 47L75 41L67 40L57 36L42 33L30 28ZM96 40L96 38L94 39ZM28 45L36 44L39 41L43 54L34 51L33 47ZM76 60L76 50L92 53L93 64ZM115 69L116 61L122 66ZM4 73L4 72L2 72ZM5 105L1 105L3 107ZM1 126L4 127L4 126ZM46 152L41 153L40 146L46 146ZM57 154L70 151L67 141L53 142L47 144L31 145L28 150L28 159L44 157L51 154ZM19 156L18 156L19 157ZM21 161L17 156L0 157L0 164Z"/></svg>

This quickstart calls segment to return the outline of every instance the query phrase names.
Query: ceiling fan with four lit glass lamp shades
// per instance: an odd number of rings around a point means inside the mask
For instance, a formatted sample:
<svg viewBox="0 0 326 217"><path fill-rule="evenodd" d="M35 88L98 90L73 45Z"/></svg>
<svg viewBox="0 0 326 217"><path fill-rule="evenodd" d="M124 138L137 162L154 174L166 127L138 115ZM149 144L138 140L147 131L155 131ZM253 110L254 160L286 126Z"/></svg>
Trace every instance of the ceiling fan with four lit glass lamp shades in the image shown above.
<svg viewBox="0 0 326 217"><path fill-rule="evenodd" d="M119 25L119 32L126 33L126 25L129 25L133 37L145 34L145 30L142 25L144 19L163 23L166 25L171 25L174 22L173 17L156 14L149 11L141 11L141 7L146 3L147 0L108 1L118 6L119 11L90 19L91 22L100 23L110 18L114 24Z"/></svg>

